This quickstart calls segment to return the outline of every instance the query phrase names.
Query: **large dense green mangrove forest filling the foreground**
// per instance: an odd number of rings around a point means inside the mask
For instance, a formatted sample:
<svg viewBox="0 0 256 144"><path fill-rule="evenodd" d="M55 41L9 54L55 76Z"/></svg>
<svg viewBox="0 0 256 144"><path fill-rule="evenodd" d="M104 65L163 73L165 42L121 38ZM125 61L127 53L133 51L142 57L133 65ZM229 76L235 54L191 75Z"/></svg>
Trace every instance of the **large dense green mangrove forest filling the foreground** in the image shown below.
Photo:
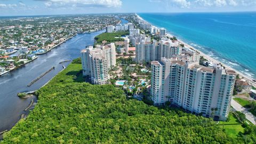
<svg viewBox="0 0 256 144"><path fill-rule="evenodd" d="M1 143L256 142L255 127L234 139L209 118L126 99L113 85L85 83L81 70L71 63L38 90L35 109Z"/></svg>

